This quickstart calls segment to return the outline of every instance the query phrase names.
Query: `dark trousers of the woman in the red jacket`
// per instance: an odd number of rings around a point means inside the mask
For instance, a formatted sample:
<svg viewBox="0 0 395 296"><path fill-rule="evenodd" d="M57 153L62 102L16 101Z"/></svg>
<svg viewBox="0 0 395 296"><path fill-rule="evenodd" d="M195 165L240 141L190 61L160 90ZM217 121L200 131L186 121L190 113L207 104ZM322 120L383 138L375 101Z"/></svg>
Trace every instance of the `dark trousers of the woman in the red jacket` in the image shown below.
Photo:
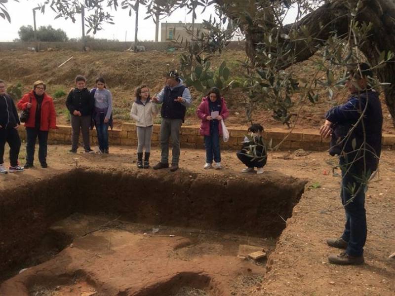
<svg viewBox="0 0 395 296"><path fill-rule="evenodd" d="M26 163L33 164L34 152L36 149L36 140L39 138L39 160L40 163L46 163L46 154L48 147L48 131L40 131L38 128L26 128Z"/></svg>

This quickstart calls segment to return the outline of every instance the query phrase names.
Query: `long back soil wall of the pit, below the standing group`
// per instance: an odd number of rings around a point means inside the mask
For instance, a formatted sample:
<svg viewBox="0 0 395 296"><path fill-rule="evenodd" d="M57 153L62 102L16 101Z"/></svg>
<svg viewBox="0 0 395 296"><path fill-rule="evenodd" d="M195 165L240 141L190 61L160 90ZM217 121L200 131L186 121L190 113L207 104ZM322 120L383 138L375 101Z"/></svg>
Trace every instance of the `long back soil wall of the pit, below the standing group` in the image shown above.
<svg viewBox="0 0 395 296"><path fill-rule="evenodd" d="M291 216L304 182L275 173L265 177L240 182L227 175L211 179L89 171L79 175L77 208L115 212L133 222L277 236L285 227L279 216Z"/></svg>

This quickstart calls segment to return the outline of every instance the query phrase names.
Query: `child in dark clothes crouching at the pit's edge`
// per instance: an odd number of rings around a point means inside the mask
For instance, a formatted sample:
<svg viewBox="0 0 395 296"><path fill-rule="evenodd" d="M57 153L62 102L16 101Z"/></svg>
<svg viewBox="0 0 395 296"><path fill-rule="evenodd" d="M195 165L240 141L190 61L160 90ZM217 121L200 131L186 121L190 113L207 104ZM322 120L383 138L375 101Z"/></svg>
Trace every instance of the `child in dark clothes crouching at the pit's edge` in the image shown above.
<svg viewBox="0 0 395 296"><path fill-rule="evenodd" d="M248 133L251 133L251 135L244 138L241 150L236 153L237 158L247 166L241 172L250 173L256 167L256 173L263 174L263 167L268 158L262 138L263 127L258 123L254 123L248 128Z"/></svg>

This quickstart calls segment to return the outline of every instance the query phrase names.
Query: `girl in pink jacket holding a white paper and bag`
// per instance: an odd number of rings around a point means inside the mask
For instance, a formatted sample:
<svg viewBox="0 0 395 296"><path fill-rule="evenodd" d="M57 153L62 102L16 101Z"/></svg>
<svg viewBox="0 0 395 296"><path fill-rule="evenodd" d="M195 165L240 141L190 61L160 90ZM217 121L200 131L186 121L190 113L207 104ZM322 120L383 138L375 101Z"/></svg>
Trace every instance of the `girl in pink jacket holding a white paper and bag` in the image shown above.
<svg viewBox="0 0 395 296"><path fill-rule="evenodd" d="M229 115L229 110L218 88L211 88L206 97L202 98L197 108L197 116L201 119L200 135L204 136L204 146L206 148L206 163L204 169L212 167L221 169L221 150L219 138L222 135L221 120Z"/></svg>

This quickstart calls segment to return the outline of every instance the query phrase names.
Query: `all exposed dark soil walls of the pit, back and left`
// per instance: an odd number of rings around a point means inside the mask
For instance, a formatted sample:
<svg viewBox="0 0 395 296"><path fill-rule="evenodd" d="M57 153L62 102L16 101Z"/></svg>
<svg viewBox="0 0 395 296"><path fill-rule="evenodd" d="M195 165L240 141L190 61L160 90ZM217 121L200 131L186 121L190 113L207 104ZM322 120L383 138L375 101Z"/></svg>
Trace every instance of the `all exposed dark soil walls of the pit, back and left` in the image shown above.
<svg viewBox="0 0 395 296"><path fill-rule="evenodd" d="M48 226L73 212L108 212L156 225L278 236L305 182L275 172L242 182L184 172L98 172L77 169L0 192L0 270L29 256Z"/></svg>

